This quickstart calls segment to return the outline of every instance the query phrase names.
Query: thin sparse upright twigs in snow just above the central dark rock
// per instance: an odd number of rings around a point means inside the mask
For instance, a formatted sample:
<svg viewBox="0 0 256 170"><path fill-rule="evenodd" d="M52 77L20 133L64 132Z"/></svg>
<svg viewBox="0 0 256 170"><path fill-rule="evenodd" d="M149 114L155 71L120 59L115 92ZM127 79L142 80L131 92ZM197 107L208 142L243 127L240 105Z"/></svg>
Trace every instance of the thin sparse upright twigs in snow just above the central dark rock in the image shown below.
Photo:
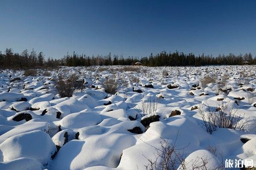
<svg viewBox="0 0 256 170"><path fill-rule="evenodd" d="M145 100L143 100L141 102L141 106L136 105L133 108L139 114L142 114L143 116L145 116L147 114L151 114L151 113L154 113L155 111L157 111L157 105L158 105L158 98L150 96L148 102L145 102Z"/></svg>

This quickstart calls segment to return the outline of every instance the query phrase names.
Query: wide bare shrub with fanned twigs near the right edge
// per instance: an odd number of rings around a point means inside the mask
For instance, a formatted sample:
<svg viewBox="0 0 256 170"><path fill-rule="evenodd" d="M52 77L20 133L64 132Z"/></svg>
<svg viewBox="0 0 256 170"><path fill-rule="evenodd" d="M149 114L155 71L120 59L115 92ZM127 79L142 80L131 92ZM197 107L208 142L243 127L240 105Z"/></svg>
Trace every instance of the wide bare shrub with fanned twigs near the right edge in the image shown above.
<svg viewBox="0 0 256 170"><path fill-rule="evenodd" d="M247 130L248 117L241 116L237 109L229 108L224 103L216 108L218 109L211 109L207 106L207 111L204 111L201 107L198 108L198 113L203 119L203 125L208 133L212 134L218 128Z"/></svg>

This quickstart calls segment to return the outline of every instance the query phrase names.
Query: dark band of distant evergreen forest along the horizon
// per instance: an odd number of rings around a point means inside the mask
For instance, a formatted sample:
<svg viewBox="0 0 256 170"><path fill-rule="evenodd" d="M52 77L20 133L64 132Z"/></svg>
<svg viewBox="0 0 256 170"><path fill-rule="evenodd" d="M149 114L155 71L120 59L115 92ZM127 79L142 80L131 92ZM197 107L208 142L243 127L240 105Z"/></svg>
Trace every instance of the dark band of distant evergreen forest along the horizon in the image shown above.
<svg viewBox="0 0 256 170"><path fill-rule="evenodd" d="M256 57L252 54L234 54L219 55L212 57L209 55L195 56L193 53L184 54L175 51L166 53L162 51L159 54L151 54L148 57L123 57L118 55L106 56L86 56L84 54L67 54L61 59L45 58L43 52L36 53L34 49L27 49L20 54L15 53L12 48L6 48L4 53L0 51L0 68L46 68L56 66L90 66L90 65L134 65L135 62L141 62L145 66L201 66L201 65L243 65L243 62L249 62L249 65L256 64Z"/></svg>

